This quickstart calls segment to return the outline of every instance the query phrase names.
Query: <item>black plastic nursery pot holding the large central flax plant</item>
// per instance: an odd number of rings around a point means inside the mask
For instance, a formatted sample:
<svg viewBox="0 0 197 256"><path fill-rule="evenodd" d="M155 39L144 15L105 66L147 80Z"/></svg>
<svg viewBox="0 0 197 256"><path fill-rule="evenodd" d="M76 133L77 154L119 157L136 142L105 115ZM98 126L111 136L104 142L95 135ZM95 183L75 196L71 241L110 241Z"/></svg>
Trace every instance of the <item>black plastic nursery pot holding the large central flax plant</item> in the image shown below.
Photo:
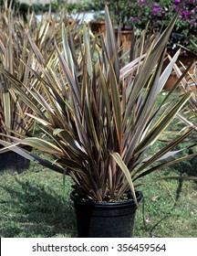
<svg viewBox="0 0 197 256"><path fill-rule="evenodd" d="M136 197L140 202L142 199L140 191L136 192ZM79 238L130 238L133 236L137 210L133 199L115 203L93 202L78 197L76 191L71 192L70 198L74 201Z"/></svg>

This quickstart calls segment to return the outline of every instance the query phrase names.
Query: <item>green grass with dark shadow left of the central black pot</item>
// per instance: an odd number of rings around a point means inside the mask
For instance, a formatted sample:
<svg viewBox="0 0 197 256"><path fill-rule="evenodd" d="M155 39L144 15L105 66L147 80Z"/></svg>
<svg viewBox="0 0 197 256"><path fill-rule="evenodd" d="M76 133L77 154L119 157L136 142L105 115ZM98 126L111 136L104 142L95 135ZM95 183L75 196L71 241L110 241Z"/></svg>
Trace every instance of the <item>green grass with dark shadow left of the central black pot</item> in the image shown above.
<svg viewBox="0 0 197 256"><path fill-rule="evenodd" d="M0 176L1 237L76 236L70 180L40 165L21 175Z"/></svg>

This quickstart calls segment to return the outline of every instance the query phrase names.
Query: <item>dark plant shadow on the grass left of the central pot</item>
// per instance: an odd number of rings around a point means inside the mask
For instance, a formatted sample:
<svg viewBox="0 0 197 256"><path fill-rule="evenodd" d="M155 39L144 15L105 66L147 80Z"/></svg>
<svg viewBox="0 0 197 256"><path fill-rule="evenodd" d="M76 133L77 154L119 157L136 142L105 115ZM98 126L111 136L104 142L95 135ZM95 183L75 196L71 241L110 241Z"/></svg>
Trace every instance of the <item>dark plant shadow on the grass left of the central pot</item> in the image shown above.
<svg viewBox="0 0 197 256"><path fill-rule="evenodd" d="M2 201L1 237L76 237L72 202L45 187L17 179L18 187L4 186L11 199ZM51 192L51 193L50 193ZM1 216L2 218L2 216Z"/></svg>

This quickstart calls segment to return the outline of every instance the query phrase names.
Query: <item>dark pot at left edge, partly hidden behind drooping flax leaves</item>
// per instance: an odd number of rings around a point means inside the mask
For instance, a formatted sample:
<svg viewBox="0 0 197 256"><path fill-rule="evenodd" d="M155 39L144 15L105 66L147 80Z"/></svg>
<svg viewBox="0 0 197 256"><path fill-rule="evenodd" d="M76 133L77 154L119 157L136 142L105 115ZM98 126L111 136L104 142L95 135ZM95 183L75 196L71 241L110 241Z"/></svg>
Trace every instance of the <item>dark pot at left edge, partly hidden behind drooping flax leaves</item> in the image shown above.
<svg viewBox="0 0 197 256"><path fill-rule="evenodd" d="M0 146L2 148L2 146ZM27 151L31 152L30 146L24 147ZM8 151L0 154L0 172L10 171L21 173L29 167L30 160L16 154L13 151Z"/></svg>

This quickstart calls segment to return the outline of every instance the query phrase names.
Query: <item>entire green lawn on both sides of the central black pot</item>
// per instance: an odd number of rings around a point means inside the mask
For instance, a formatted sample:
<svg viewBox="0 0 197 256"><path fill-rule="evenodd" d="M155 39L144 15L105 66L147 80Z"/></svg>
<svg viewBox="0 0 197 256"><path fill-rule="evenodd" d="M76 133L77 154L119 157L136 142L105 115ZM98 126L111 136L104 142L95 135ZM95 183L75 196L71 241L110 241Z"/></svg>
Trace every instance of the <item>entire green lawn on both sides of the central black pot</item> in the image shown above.
<svg viewBox="0 0 197 256"><path fill-rule="evenodd" d="M186 162L185 171L191 171L195 165L196 162L193 165ZM178 175L179 168L174 166L163 173ZM61 175L40 165L30 165L20 175L1 174L0 236L77 237L74 209L69 199L71 189L69 178L64 188ZM144 202L137 211L136 237L197 237L196 183L168 180L140 187L140 190ZM150 223L145 221L144 225L143 218L150 219Z"/></svg>

